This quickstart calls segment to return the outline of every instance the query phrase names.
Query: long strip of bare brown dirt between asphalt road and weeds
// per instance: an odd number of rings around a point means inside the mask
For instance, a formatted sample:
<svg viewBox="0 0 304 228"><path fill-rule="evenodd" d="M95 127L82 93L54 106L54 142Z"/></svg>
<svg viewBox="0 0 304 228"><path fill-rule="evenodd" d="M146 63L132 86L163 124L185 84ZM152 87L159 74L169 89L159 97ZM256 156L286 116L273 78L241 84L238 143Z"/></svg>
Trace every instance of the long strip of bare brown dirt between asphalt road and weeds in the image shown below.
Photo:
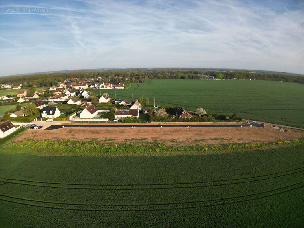
<svg viewBox="0 0 304 228"><path fill-rule="evenodd" d="M143 139L167 145L223 145L227 143L244 142L277 142L300 139L304 131L288 129L287 132L266 126L260 127L208 127L208 128L62 128L56 130L26 130L24 134L16 137L13 142L26 138L36 140L108 140L109 142L122 142ZM136 141L136 140L133 140ZM138 141L140 143L140 141Z"/></svg>

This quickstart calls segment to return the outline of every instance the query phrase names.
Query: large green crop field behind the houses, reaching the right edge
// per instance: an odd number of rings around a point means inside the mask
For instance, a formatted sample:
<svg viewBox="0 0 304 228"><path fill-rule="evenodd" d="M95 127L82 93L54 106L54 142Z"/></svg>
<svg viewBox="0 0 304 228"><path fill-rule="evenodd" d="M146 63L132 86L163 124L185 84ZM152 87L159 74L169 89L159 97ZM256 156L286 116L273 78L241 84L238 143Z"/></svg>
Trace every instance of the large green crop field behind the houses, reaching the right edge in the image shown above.
<svg viewBox="0 0 304 228"><path fill-rule="evenodd" d="M99 89L92 89L100 94ZM150 98L150 104L182 106L195 111L202 107L210 113L304 127L304 85L258 80L184 80L148 79L128 89L103 89L112 98L127 100Z"/></svg>

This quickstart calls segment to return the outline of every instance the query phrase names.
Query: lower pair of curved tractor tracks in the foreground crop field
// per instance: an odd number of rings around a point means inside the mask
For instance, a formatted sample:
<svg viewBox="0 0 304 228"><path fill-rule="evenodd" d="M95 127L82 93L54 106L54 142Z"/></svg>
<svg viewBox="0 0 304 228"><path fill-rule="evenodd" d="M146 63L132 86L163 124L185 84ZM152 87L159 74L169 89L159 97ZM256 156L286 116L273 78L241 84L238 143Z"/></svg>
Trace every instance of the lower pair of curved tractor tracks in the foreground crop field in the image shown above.
<svg viewBox="0 0 304 228"><path fill-rule="evenodd" d="M163 211L163 210L182 210L182 209L194 209L194 208L203 208L203 207L211 207L211 206L221 206L221 205L227 205L227 204L233 204L233 203L239 203L239 202L248 202L248 201L253 201L257 199L263 199L266 197L274 196L274 195L279 195L285 192L290 192L299 188L303 188L304 185L297 186L295 185L300 185L303 184L304 181L298 182L292 185L288 185L285 187L281 188L276 188L264 192L258 192L258 193L253 193L253 194L248 194L248 195L242 195L242 196L234 196L234 197L226 197L226 198L221 198L221 199L211 199L211 200L202 200L202 201L189 201L189 202L177 202L177 203L162 203L162 204L136 204L136 205L106 205L106 204L71 204L71 203L59 203L59 202L48 202L48 201L39 201L39 200L31 200L31 199L23 199L23 198L18 198L18 197L12 197L8 195L0 195L2 197L10 198L10 199L17 199L17 200L23 200L23 201L29 201L29 202L38 202L38 203L49 203L49 204L60 204L60 205L74 205L74 206L113 206L113 207L123 207L123 206L167 206L167 205L183 205L183 204L200 204L200 203L207 203L206 205L198 205L198 206L186 206L186 207L179 207L179 208L155 208L155 209L85 209L85 208L61 208L61 207L55 207L55 206L42 206L42 205L34 205L30 203L23 203L23 202L16 202L13 200L8 200L8 199L1 199L2 201L6 202L12 202L16 204L21 204L21 205L26 205L26 206L33 206L33 207L41 207L41 208L49 208L49 209L59 209L59 210L76 210L76 211ZM290 188L293 187L293 188ZM287 189L286 189L287 188ZM290 188L290 189L288 189ZM278 191L278 192L276 192ZM244 197L250 197L250 196L255 196L255 195L261 195L261 194L267 194L268 195L263 195L263 196L258 196L258 197L252 197L250 199L241 199ZM238 200L241 199L241 200ZM227 200L235 200L231 202L225 202ZM213 203L215 202L215 203Z"/></svg>

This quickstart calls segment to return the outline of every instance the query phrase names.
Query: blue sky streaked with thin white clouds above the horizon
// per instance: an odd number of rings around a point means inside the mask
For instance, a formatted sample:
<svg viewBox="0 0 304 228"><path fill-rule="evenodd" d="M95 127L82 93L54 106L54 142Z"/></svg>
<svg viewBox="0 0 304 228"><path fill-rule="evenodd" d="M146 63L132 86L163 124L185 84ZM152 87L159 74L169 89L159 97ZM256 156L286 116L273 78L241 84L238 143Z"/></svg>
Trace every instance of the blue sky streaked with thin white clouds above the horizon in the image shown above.
<svg viewBox="0 0 304 228"><path fill-rule="evenodd" d="M303 0L1 1L0 76L128 67L304 74L303 15Z"/></svg>

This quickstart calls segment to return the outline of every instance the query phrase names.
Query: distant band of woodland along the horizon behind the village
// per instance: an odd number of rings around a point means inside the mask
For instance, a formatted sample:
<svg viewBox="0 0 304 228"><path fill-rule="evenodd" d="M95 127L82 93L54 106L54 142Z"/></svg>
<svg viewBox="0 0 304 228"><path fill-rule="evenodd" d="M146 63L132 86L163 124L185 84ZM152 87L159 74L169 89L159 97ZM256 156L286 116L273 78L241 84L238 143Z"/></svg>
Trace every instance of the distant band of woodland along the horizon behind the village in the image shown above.
<svg viewBox="0 0 304 228"><path fill-rule="evenodd" d="M0 79L0 84L13 84L23 86L53 86L57 82L63 82L67 78L77 78L72 80L85 80L86 78L101 77L100 81L104 82L123 82L131 84L133 82L144 82L148 78L167 78L167 79L204 79L210 75L219 79L252 79L252 80L266 80L266 81L286 81L295 83L304 83L304 77L285 75L285 74L271 74L271 73L251 73L251 72L237 72L237 71L195 71L195 70L155 70L155 71L101 71L101 72L71 72L71 73L50 73L50 74L33 74L22 76L10 76Z"/></svg>

